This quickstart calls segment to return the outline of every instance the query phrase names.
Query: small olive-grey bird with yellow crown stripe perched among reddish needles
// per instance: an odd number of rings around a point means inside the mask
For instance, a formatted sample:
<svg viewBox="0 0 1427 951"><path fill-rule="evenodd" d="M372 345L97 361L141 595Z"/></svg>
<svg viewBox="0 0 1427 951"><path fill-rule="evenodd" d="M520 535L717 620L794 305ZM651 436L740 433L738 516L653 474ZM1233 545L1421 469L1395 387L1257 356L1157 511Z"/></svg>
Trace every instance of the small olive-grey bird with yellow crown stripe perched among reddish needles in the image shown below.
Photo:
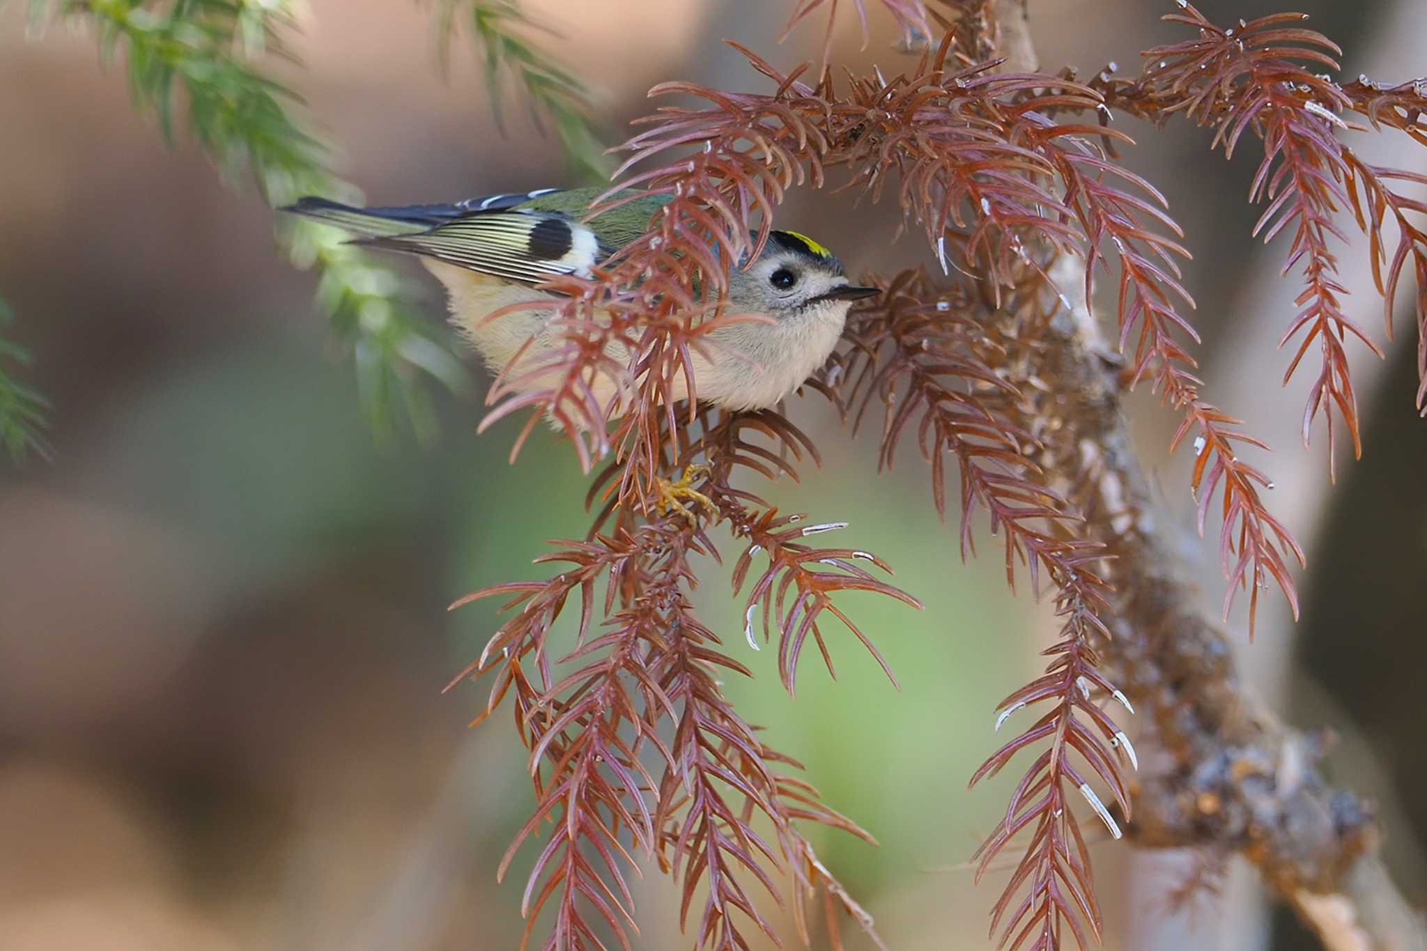
<svg viewBox="0 0 1427 951"><path fill-rule="evenodd" d="M564 274L591 277L598 262L644 234L669 201L668 195L622 191L616 197L632 201L581 221L601 194L602 188L541 188L384 208L303 198L285 211L344 228L357 235L354 244L420 257L447 288L451 321L487 365L535 388L542 378L521 371L542 364L564 338L549 327L561 298L534 285ZM733 268L726 307L729 314L763 315L771 322L732 322L711 331L712 346L691 356L695 392L729 409L776 405L832 354L853 301L875 294L876 288L853 287L842 262L812 238L771 232L756 261ZM541 299L552 308L485 319L511 304ZM621 362L628 358L612 355ZM682 374L675 385L674 398L685 398ZM618 406L614 389L612 381L596 382L602 406Z"/></svg>

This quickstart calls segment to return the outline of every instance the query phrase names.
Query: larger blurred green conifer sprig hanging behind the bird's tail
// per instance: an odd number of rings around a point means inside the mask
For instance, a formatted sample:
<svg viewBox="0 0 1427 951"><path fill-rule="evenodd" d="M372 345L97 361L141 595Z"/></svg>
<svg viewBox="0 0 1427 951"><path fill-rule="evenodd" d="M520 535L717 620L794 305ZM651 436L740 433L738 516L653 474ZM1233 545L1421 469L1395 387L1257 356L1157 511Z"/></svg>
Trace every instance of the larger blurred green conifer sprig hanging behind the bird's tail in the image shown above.
<svg viewBox="0 0 1427 951"><path fill-rule="evenodd" d="M59 0L30 4L31 17L91 26L106 63L123 58L134 106L173 138L176 111L228 181L251 177L281 207L301 195L351 197L330 170L331 151L308 128L297 97L255 66L285 56L295 0ZM398 419L398 399L421 438L435 432L425 378L452 391L468 378L444 328L401 294L395 271L342 244L332 228L284 221L281 238L300 267L323 268L318 304L355 354L362 401L378 433Z"/></svg>

